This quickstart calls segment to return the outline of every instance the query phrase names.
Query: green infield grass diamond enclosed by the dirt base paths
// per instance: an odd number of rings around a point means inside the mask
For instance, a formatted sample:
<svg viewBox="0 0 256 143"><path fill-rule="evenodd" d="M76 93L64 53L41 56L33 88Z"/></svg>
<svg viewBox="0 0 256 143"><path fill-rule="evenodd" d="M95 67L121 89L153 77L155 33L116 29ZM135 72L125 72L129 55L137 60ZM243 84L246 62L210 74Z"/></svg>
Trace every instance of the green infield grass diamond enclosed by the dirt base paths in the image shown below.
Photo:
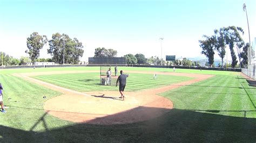
<svg viewBox="0 0 256 143"><path fill-rule="evenodd" d="M77 91L118 90L115 86L99 85L99 73L39 75L35 76L35 78ZM137 91L142 89L158 88L191 79L191 77L185 76L159 74L157 76L157 80L154 80L153 74L132 73L129 77L127 77L125 91ZM116 85L116 80L117 78L112 78L112 85Z"/></svg>

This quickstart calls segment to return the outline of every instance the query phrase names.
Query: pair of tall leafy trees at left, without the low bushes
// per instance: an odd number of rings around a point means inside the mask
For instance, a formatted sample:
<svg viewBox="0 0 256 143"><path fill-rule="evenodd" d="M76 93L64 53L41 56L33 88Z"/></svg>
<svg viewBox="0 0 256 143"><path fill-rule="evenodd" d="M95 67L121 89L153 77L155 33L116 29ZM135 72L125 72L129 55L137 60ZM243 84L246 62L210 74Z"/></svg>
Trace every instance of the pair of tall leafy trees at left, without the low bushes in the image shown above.
<svg viewBox="0 0 256 143"><path fill-rule="evenodd" d="M39 35L33 32L27 38L26 45L28 49L25 53L29 54L32 63L35 63L40 55L40 50L49 42L48 54L51 55L51 61L59 64L77 64L83 56L83 44L77 38L71 39L68 34L55 33L52 39L48 40L45 35Z"/></svg>

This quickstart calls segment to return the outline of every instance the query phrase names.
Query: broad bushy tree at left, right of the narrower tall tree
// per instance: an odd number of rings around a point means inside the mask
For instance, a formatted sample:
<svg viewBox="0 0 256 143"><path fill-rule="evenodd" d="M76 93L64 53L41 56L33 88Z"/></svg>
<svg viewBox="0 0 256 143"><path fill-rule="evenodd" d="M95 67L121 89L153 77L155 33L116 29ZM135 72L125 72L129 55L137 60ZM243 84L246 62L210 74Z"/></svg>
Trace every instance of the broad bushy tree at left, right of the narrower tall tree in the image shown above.
<svg viewBox="0 0 256 143"><path fill-rule="evenodd" d="M52 34L49 40L48 54L51 54L55 63L63 63L63 54L65 63L77 64L83 56L83 44L77 38L71 39L68 34Z"/></svg>

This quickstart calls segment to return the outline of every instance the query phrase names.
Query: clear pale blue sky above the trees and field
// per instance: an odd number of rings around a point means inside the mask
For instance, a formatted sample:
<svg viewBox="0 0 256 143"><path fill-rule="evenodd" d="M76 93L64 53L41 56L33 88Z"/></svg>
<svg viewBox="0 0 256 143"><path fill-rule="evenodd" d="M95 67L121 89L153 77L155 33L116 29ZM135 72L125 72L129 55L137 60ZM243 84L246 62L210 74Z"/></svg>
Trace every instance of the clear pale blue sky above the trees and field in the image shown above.
<svg viewBox="0 0 256 143"><path fill-rule="evenodd" d="M83 61L93 56L97 47L115 49L118 56L143 53L147 58L161 57L161 37L164 38L163 58L165 55L205 57L200 54L198 40L203 34L213 34L216 28L240 26L248 42L244 3L252 41L256 37L255 0L0 0L0 51L16 58L26 56L26 38L32 32L48 39L59 32L83 42ZM50 57L47 48L48 45L42 49L41 58Z"/></svg>

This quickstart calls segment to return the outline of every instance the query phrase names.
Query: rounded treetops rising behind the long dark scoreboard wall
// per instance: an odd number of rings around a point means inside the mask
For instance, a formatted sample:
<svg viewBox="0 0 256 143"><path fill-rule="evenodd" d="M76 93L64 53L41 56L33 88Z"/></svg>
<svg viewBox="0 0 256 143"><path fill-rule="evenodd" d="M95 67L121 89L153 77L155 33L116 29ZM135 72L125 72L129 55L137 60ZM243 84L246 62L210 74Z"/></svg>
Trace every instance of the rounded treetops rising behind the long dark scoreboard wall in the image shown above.
<svg viewBox="0 0 256 143"><path fill-rule="evenodd" d="M95 57L116 57L117 51L113 49L106 49L106 48L96 48L95 49Z"/></svg>

